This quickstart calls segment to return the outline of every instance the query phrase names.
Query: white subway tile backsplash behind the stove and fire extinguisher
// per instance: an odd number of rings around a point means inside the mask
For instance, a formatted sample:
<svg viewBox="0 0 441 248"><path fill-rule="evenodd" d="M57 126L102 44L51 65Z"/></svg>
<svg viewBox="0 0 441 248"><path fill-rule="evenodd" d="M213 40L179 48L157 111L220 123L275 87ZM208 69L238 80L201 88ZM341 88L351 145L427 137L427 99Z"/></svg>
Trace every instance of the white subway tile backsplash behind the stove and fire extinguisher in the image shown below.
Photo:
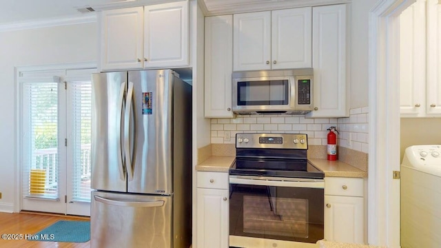
<svg viewBox="0 0 441 248"><path fill-rule="evenodd" d="M368 152L369 107L350 110L347 118L305 118L295 115L236 116L211 119L211 143L234 143L237 133L271 132L308 135L309 145L327 145L327 128L336 126L342 147Z"/></svg>

